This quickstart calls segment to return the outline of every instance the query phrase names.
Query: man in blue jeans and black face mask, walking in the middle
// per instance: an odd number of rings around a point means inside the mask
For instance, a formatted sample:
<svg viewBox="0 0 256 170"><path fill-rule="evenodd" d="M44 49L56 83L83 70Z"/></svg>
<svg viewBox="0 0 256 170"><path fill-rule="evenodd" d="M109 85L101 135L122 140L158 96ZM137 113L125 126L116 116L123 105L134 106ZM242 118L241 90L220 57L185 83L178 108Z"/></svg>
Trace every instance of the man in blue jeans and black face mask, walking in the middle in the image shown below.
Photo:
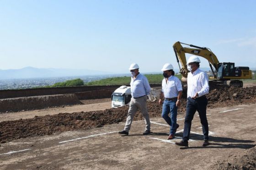
<svg viewBox="0 0 256 170"><path fill-rule="evenodd" d="M173 67L170 63L165 63L162 70L165 77L162 81L162 90L159 103L163 103L162 118L170 125L170 135L168 140L174 138L174 134L179 127L177 122L177 107L181 105L182 86L178 77L174 76ZM171 113L171 117L169 116Z"/></svg>

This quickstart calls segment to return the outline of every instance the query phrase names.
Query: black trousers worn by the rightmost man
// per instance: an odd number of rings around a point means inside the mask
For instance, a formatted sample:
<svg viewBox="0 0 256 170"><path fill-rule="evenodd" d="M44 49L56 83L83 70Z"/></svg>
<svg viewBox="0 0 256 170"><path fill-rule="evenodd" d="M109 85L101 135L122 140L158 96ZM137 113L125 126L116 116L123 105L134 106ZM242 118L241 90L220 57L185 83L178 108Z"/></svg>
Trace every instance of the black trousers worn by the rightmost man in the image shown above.
<svg viewBox="0 0 256 170"><path fill-rule="evenodd" d="M190 97L187 98L187 111L185 116L184 131L183 131L183 138L182 138L183 141L189 140L191 124L196 111L199 113L199 117L203 127L203 139L207 139L207 140L209 139L208 121L206 118L207 104L208 104L208 100L205 96L202 96L196 99L193 99Z"/></svg>

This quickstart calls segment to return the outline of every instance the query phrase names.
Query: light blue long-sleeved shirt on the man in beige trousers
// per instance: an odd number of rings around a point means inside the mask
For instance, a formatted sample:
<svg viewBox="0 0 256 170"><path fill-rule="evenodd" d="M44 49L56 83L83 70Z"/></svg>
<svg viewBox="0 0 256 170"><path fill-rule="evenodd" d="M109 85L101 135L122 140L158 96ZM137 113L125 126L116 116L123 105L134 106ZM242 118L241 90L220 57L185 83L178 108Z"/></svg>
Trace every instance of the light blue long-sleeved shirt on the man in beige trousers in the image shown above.
<svg viewBox="0 0 256 170"><path fill-rule="evenodd" d="M149 95L150 86L147 77L142 74L138 74L138 76L133 80L133 76L131 77L131 94L133 98L139 98L141 96Z"/></svg>

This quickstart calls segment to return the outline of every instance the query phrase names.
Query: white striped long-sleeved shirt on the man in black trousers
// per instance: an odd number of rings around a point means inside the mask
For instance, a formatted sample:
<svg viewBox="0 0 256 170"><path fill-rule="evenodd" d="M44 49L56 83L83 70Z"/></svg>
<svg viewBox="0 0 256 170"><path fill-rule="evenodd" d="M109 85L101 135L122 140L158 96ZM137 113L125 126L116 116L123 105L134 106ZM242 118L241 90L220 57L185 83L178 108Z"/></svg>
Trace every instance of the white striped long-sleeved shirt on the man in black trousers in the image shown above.
<svg viewBox="0 0 256 170"><path fill-rule="evenodd" d="M196 93L198 93L198 97L209 93L208 76L199 68L187 75L187 98L194 97Z"/></svg>

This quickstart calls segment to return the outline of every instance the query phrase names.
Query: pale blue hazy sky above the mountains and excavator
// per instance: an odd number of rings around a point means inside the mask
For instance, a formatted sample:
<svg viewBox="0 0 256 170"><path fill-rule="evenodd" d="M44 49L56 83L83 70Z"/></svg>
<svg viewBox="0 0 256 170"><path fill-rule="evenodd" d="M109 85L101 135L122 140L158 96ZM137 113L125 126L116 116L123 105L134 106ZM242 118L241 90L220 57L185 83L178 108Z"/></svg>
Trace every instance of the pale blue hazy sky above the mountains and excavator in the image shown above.
<svg viewBox="0 0 256 170"><path fill-rule="evenodd" d="M256 67L256 0L0 0L0 69L160 72L176 41Z"/></svg>

